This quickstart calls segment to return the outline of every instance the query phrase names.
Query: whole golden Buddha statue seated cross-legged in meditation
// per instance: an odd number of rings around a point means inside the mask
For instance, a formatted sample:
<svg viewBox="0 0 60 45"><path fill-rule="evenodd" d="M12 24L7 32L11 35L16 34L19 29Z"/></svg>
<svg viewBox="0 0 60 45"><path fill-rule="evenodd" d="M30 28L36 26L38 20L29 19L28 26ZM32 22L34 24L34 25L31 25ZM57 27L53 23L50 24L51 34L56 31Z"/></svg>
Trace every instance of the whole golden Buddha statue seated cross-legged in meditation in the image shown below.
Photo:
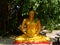
<svg viewBox="0 0 60 45"><path fill-rule="evenodd" d="M21 25L21 30L24 33L21 36L15 38L19 42L46 42L50 41L49 37L42 36L39 34L41 31L40 20L34 20L34 10L30 10L29 18L24 19Z"/></svg>

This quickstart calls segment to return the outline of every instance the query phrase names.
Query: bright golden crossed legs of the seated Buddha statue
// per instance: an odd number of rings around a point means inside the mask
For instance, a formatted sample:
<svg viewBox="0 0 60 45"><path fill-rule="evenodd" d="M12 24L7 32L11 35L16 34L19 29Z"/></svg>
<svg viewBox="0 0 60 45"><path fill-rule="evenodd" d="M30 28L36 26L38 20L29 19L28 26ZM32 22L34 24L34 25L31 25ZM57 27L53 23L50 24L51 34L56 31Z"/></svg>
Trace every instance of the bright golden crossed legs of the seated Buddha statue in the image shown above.
<svg viewBox="0 0 60 45"><path fill-rule="evenodd" d="M19 42L46 42L46 41L50 41L50 38L46 36L41 36L41 35L35 36L33 38L29 38L23 34L21 36L16 37L15 40Z"/></svg>

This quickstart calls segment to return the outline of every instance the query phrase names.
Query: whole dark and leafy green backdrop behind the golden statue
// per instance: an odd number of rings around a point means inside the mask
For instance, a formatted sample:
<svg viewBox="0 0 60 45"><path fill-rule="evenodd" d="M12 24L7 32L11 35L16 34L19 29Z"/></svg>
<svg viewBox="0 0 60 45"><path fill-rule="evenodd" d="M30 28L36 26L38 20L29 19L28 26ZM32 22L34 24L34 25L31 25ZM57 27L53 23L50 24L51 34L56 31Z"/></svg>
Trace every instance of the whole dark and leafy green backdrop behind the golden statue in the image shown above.
<svg viewBox="0 0 60 45"><path fill-rule="evenodd" d="M0 35L22 34L17 27L28 17L31 7L45 29L60 30L60 0L0 0Z"/></svg>

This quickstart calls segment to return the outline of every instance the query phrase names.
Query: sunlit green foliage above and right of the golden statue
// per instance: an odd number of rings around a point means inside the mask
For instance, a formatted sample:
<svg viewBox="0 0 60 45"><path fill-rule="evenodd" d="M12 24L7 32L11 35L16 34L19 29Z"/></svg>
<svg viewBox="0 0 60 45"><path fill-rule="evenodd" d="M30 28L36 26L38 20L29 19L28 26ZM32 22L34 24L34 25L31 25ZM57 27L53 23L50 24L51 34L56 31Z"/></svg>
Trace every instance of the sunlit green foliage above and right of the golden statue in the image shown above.
<svg viewBox="0 0 60 45"><path fill-rule="evenodd" d="M59 29L57 25L60 24L60 0L25 0L22 5L22 16L28 15L28 10L32 6L36 11L35 17L41 20L42 26L51 31Z"/></svg>

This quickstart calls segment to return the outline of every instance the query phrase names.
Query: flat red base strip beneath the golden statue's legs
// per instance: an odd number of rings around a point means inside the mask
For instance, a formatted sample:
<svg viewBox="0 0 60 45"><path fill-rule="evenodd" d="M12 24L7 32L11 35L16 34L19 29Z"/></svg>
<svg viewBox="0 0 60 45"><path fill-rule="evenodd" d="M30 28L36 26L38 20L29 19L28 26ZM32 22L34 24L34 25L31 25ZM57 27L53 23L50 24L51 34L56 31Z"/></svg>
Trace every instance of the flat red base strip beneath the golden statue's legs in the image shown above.
<svg viewBox="0 0 60 45"><path fill-rule="evenodd" d="M17 45L51 45L51 42L18 42L18 41L15 41L14 44L17 44Z"/></svg>

